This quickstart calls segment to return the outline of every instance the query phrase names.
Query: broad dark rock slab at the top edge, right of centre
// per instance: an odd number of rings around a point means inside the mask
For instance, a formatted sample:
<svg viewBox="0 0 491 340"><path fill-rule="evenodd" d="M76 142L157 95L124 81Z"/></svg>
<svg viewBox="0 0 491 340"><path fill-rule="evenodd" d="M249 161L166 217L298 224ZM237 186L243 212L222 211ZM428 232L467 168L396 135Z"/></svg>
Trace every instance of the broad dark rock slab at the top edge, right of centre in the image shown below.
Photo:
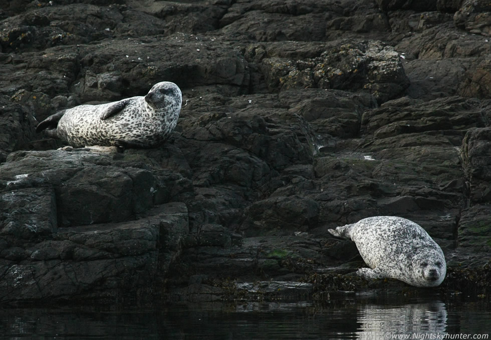
<svg viewBox="0 0 491 340"><path fill-rule="evenodd" d="M320 41L345 32L386 32L385 15L373 1L235 2L220 20L221 32L257 41Z"/></svg>

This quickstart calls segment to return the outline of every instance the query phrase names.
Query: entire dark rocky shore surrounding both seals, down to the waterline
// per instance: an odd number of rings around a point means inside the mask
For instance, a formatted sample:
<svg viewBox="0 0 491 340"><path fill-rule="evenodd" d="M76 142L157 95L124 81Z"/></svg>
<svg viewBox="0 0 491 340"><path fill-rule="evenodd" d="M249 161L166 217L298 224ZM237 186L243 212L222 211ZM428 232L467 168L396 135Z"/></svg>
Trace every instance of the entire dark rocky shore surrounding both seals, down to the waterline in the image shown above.
<svg viewBox="0 0 491 340"><path fill-rule="evenodd" d="M0 302L405 289L352 276L356 247L327 232L389 214L443 248L438 289L485 291L486 13L461 0L0 4ZM35 133L57 110L162 80L183 104L159 148L58 149Z"/></svg>

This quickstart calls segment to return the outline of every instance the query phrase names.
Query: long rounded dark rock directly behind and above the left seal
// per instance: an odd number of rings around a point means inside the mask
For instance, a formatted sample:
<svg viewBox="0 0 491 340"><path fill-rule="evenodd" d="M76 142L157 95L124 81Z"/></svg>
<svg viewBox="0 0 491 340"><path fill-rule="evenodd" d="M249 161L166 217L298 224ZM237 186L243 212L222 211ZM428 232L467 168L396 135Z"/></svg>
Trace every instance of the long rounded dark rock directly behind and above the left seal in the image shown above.
<svg viewBox="0 0 491 340"><path fill-rule="evenodd" d="M96 46L87 45L81 53L81 73L89 74L89 78L79 79L85 91L88 88L107 87L103 83L112 82L113 88L109 86L107 89L116 94L121 90L121 84L125 89L123 94L143 94L154 83L165 78L184 88L218 82L225 94L237 94L249 83L247 61L237 51L224 47L216 39L189 34L176 33L166 38L164 48L160 39L155 37L130 38ZM108 76L113 78L109 83L103 80ZM91 100L105 100L104 91L90 93L99 93L99 97L91 97Z"/></svg>

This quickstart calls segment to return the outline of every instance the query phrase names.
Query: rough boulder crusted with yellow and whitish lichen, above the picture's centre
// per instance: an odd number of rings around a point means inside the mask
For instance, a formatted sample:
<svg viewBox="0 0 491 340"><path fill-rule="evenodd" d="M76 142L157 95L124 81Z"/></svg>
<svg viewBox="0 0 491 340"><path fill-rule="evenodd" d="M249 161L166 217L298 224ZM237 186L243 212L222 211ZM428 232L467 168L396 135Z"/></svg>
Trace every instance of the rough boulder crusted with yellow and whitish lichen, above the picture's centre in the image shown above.
<svg viewBox="0 0 491 340"><path fill-rule="evenodd" d="M269 88L364 88L383 102L409 85L398 53L379 41L338 42L335 46L318 48L324 51L315 58L303 60L281 57L284 54L281 49L278 56L270 52L269 57L262 60Z"/></svg>

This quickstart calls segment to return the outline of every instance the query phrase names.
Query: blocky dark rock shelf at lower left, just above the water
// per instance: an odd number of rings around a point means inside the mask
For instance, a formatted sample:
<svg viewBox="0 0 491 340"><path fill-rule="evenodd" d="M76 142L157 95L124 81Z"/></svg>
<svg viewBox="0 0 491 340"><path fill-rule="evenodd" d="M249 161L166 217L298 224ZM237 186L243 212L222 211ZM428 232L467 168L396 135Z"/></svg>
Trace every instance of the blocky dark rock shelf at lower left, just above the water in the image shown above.
<svg viewBox="0 0 491 340"><path fill-rule="evenodd" d="M2 250L0 300L15 302L22 296L114 302L123 292L136 299L147 289L145 281L155 275L158 243L163 246L172 240L174 244L176 236L182 238L188 232L186 219L177 232L175 218L185 218L186 209L183 204L176 207L164 205L138 221L59 229L53 239L24 248L24 258L15 256L13 247ZM172 238L160 232L169 227ZM175 248L161 250L176 252Z"/></svg>

